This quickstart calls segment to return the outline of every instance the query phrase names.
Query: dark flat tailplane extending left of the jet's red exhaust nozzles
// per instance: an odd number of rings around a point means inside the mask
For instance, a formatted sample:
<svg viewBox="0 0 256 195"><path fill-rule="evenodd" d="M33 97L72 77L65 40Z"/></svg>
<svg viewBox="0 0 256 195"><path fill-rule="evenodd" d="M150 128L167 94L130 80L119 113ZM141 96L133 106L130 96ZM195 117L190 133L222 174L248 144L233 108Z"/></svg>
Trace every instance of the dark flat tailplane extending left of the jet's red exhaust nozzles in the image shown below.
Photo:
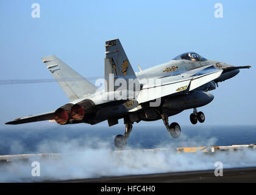
<svg viewBox="0 0 256 195"><path fill-rule="evenodd" d="M6 122L5 124L23 124L27 122L46 121L51 119L54 119L54 112L48 112L40 115L27 116L22 118L15 118L14 121Z"/></svg>

